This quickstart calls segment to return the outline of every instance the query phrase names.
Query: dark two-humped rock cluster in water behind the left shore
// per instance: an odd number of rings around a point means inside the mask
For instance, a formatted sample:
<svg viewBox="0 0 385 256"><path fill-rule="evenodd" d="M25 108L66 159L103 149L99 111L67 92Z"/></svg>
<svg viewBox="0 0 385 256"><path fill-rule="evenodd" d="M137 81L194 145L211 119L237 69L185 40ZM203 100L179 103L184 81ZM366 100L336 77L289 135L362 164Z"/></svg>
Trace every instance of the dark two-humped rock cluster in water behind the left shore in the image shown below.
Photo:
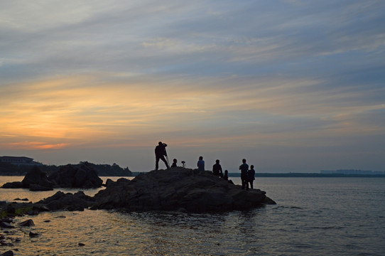
<svg viewBox="0 0 385 256"><path fill-rule="evenodd" d="M67 164L49 177L34 166L23 181L5 183L2 188L29 188L30 191L52 191L53 188L99 188L102 179L87 162L80 166Z"/></svg>

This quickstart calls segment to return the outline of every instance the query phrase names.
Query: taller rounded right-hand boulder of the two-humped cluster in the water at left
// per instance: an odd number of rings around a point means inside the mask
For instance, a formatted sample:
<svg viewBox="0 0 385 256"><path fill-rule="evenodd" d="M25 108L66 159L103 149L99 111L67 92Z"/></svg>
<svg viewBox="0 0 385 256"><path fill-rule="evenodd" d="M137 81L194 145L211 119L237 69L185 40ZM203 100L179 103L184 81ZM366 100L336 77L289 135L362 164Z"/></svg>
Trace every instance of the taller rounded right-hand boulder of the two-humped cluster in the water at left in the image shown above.
<svg viewBox="0 0 385 256"><path fill-rule="evenodd" d="M60 188L99 188L103 183L97 176L97 171L87 162L80 166L62 166L59 171L49 176L49 180Z"/></svg>

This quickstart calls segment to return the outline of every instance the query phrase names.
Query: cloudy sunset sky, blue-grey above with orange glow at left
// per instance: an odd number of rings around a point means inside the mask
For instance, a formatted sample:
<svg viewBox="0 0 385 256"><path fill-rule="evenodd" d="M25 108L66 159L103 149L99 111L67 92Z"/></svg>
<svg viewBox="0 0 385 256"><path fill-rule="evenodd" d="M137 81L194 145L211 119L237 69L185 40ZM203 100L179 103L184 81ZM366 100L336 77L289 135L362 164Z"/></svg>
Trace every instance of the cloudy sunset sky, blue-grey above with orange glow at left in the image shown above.
<svg viewBox="0 0 385 256"><path fill-rule="evenodd" d="M385 171L385 1L0 0L0 156ZM160 168L165 168L160 163Z"/></svg>

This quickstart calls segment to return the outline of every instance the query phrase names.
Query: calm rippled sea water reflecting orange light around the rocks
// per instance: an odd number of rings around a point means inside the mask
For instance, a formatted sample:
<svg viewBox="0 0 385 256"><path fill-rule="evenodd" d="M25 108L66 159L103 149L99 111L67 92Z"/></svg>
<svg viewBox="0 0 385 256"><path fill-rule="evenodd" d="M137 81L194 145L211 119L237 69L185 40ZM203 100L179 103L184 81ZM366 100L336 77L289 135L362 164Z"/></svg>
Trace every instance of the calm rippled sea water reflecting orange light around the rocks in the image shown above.
<svg viewBox="0 0 385 256"><path fill-rule="evenodd" d="M22 178L0 176L0 185ZM257 178L254 187L277 205L224 214L85 210L23 216L16 222L31 218L36 225L11 230L9 238L21 241L0 247L0 253L385 255L385 178ZM0 188L0 201L36 202L55 192ZM29 238L31 230L39 237Z"/></svg>

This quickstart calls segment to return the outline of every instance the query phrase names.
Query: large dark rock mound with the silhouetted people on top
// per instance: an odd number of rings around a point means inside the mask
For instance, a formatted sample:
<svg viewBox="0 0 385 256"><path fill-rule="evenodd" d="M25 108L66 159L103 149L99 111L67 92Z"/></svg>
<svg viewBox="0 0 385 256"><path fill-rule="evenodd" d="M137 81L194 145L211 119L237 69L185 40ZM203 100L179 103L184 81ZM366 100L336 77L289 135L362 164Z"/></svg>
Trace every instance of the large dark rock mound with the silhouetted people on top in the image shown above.
<svg viewBox="0 0 385 256"><path fill-rule="evenodd" d="M94 196L94 208L125 210L185 210L218 212L246 210L275 203L264 191L242 190L210 171L184 168L139 174L132 181L119 178Z"/></svg>

